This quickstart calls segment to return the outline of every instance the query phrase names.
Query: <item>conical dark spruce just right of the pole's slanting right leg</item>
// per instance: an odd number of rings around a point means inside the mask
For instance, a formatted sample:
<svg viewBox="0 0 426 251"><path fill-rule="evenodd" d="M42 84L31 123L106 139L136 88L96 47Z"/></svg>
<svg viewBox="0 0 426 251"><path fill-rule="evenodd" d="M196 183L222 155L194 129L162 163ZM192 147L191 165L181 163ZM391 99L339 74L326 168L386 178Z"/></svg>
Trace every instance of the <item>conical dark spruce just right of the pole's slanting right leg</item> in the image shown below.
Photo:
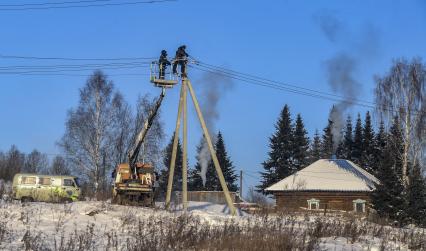
<svg viewBox="0 0 426 251"><path fill-rule="evenodd" d="M226 151L225 142L223 140L222 133L219 131L217 134L217 140L215 144L216 156L219 161L219 165L222 169L223 176L225 178L226 185L228 186L229 191L236 192L238 190L237 185L237 175L235 174L235 167L230 160L228 153ZM216 169L215 169L216 170ZM217 177L217 174L216 174ZM220 189L217 191L221 191L222 187L220 183L217 184Z"/></svg>

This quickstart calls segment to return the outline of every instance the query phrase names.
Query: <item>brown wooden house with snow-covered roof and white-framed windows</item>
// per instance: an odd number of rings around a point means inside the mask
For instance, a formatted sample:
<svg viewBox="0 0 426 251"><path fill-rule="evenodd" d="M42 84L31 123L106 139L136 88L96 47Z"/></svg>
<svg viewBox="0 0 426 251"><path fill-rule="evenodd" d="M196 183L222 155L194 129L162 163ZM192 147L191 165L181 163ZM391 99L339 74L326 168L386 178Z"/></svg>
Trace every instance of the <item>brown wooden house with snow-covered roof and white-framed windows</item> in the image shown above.
<svg viewBox="0 0 426 251"><path fill-rule="evenodd" d="M273 184L277 209L367 212L379 181L353 162L321 159Z"/></svg>

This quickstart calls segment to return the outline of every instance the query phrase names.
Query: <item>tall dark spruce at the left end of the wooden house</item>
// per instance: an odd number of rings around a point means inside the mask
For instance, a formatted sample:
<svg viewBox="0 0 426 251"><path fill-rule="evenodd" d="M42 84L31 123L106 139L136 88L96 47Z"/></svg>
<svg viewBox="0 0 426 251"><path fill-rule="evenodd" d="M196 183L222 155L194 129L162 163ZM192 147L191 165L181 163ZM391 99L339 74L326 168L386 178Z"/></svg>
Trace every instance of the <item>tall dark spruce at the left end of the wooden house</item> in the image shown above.
<svg viewBox="0 0 426 251"><path fill-rule="evenodd" d="M281 111L275 130L269 139L269 157L262 163L262 181L257 186L258 191L263 193L265 188L291 175L293 171L293 128L288 105Z"/></svg>

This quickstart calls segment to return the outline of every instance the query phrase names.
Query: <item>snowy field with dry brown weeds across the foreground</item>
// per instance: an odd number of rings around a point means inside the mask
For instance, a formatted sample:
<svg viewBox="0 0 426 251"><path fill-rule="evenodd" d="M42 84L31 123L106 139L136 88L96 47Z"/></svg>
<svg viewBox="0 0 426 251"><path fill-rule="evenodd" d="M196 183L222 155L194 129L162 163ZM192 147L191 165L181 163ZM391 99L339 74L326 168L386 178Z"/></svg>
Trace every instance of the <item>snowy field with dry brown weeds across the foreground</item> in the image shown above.
<svg viewBox="0 0 426 251"><path fill-rule="evenodd" d="M159 204L158 207L161 207ZM307 215L231 217L223 205L189 213L111 205L0 200L1 250L426 250L424 229Z"/></svg>

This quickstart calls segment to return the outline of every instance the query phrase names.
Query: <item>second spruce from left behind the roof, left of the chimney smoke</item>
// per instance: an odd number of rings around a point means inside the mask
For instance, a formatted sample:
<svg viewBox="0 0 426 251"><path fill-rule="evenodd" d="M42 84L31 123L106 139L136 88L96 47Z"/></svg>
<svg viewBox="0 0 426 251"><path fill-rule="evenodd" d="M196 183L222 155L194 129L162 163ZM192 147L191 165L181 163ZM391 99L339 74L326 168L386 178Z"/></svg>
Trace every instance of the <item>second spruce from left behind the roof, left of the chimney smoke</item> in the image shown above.
<svg viewBox="0 0 426 251"><path fill-rule="evenodd" d="M305 168L309 163L309 137L308 132L303 124L302 116L297 114L296 124L294 126L293 136L293 160L294 169L293 173Z"/></svg>

